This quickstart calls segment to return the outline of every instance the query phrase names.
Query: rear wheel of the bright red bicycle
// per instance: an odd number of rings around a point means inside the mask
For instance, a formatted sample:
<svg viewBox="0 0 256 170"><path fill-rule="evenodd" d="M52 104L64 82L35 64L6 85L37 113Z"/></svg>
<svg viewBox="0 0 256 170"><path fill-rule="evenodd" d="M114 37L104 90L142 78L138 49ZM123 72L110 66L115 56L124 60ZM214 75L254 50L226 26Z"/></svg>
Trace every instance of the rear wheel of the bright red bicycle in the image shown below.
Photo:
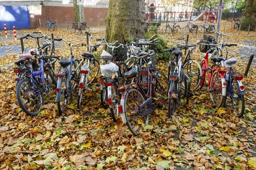
<svg viewBox="0 0 256 170"><path fill-rule="evenodd" d="M215 70L210 79L210 97L213 101L213 107L221 107L224 96L222 96L222 82L221 76L217 70Z"/></svg>

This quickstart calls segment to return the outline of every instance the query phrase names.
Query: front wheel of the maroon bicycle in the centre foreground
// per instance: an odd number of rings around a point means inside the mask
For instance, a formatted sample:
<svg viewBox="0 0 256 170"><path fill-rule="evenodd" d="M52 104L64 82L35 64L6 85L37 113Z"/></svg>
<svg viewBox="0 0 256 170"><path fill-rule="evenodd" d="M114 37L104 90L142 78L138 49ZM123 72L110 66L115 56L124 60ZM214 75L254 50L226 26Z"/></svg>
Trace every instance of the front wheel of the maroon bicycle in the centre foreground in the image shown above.
<svg viewBox="0 0 256 170"><path fill-rule="evenodd" d="M167 93L169 88L169 80L162 71L157 71L155 73L155 78L153 79L154 94L153 96L157 98L158 108L163 108L166 106Z"/></svg>

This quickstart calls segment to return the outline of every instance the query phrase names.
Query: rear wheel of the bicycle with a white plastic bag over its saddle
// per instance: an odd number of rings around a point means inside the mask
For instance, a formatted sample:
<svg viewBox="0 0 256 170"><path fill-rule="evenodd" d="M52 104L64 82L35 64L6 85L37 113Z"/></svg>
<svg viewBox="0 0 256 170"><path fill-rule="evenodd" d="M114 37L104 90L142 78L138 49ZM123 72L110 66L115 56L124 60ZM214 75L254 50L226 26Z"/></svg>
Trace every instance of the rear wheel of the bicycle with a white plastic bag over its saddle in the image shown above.
<svg viewBox="0 0 256 170"><path fill-rule="evenodd" d="M119 97L117 94L117 89L116 89L115 85L113 85L113 83L112 83L112 88L111 88L111 94L112 94L112 98L111 98L112 108L110 108L111 117L113 119L113 122L117 122L118 121L117 117L119 116L117 107L120 104L120 102L119 102L120 100L119 100Z"/></svg>

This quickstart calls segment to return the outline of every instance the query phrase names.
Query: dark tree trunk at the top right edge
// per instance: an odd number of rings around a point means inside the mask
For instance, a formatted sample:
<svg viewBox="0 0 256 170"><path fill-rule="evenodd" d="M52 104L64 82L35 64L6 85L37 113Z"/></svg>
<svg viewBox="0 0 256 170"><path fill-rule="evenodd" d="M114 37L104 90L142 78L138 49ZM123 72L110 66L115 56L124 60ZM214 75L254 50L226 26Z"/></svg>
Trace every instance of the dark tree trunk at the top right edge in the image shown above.
<svg viewBox="0 0 256 170"><path fill-rule="evenodd" d="M256 0L245 0L243 16L241 20L241 30L248 30L250 24L250 30L255 31L256 23Z"/></svg>

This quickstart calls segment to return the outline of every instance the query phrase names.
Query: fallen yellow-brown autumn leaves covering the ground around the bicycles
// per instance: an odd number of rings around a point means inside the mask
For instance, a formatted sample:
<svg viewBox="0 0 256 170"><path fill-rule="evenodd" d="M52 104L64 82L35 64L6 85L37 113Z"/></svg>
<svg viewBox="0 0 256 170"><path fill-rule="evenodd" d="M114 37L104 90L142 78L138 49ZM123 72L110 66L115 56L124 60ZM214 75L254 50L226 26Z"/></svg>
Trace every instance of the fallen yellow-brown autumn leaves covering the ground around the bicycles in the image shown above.
<svg viewBox="0 0 256 170"><path fill-rule="evenodd" d="M36 31L38 31L37 29ZM29 30L34 31L34 30ZM42 30L44 34L50 32ZM255 41L256 36L241 39L234 30L227 43L243 44ZM19 30L25 35L28 30ZM245 32L241 31L241 34ZM85 42L80 34L55 31L55 37ZM94 38L105 33L94 33ZM177 43L177 36L160 35L169 47ZM213 35L214 36L214 35ZM241 36L241 35L240 35ZM190 42L200 39L191 36ZM225 41L224 41L225 42ZM92 41L96 44L96 41ZM254 42L255 43L255 42ZM0 45L19 45L14 40ZM24 42L25 48L35 47L34 40ZM239 46L238 46L239 47ZM249 48L250 49L250 48ZM58 43L62 56L70 55L70 48ZM76 56L86 48L77 48ZM247 61L239 48L228 48L229 58L239 59L234 69L244 73ZM255 48L249 53L255 53ZM16 100L13 64L18 54L0 57L0 169L60 169L60 170L253 170L256 169L256 66L250 67L242 80L245 90L245 113L239 119L227 108L212 108L207 88L196 91L186 107L179 106L172 119L167 110L156 110L139 136L133 136L119 119L113 123L108 107L100 104L99 82L84 92L82 110L76 110L76 98L62 114L57 114L55 90L45 97L45 105L38 116L27 116ZM97 52L99 55L99 52ZM200 61L199 50L193 56ZM7 65L7 66L6 66ZM161 60L157 68L166 73L168 62Z"/></svg>

